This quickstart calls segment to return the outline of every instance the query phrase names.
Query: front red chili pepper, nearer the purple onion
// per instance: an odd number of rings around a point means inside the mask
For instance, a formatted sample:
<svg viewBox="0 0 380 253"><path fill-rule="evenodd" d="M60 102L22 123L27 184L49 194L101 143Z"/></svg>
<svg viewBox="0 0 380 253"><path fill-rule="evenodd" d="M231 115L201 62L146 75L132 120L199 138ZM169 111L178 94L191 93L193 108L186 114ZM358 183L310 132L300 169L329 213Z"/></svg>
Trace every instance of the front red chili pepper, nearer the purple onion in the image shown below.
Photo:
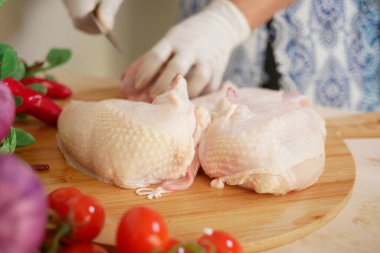
<svg viewBox="0 0 380 253"><path fill-rule="evenodd" d="M50 125L57 125L58 116L62 110L61 107L13 78L7 77L2 81L12 91L13 96L23 99L23 103L17 106L16 113L26 113Z"/></svg>

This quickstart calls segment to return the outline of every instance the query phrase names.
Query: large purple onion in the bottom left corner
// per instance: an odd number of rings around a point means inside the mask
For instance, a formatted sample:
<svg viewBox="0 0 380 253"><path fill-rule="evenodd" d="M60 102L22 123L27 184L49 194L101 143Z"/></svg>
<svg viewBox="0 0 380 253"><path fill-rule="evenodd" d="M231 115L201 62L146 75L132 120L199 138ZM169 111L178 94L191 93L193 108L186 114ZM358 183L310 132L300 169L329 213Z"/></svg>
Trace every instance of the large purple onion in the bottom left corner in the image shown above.
<svg viewBox="0 0 380 253"><path fill-rule="evenodd" d="M0 156L0 252L37 252L46 217L46 197L37 175L17 157Z"/></svg>

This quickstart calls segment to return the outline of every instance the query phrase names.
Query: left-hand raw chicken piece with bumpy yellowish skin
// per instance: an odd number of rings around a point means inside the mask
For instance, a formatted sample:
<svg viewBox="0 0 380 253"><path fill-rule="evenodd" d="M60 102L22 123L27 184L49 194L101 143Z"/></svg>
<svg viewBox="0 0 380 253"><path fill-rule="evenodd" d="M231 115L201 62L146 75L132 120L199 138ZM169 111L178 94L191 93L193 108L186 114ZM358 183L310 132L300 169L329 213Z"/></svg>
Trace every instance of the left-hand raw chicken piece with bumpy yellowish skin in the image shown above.
<svg viewBox="0 0 380 253"><path fill-rule="evenodd" d="M58 146L68 163L121 187L162 183L141 191L150 197L189 187L209 115L195 110L183 77L171 86L152 104L110 99L66 106L58 121Z"/></svg>

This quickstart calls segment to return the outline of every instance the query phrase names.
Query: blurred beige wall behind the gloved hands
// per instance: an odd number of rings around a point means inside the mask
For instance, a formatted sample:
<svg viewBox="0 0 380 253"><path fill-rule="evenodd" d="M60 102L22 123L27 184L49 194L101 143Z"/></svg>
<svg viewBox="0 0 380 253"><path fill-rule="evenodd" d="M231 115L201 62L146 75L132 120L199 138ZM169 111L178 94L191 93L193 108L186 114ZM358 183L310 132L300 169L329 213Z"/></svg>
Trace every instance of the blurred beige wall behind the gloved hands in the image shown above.
<svg viewBox="0 0 380 253"><path fill-rule="evenodd" d="M59 72L117 80L176 22L177 11L178 0L124 0L113 31L119 55L104 37L76 30L61 0L8 0L0 8L0 41L29 63L52 47L70 48L73 58Z"/></svg>

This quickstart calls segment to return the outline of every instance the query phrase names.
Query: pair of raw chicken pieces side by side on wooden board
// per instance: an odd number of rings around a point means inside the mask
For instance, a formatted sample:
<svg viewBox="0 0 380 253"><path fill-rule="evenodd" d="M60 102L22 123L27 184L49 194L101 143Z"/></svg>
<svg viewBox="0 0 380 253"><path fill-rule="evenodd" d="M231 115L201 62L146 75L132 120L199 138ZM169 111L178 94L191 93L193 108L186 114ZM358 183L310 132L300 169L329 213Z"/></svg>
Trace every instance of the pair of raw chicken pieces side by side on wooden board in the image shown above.
<svg viewBox="0 0 380 253"><path fill-rule="evenodd" d="M259 193L301 190L321 175L324 120L302 96L226 84L191 102L184 78L171 87L152 104L66 106L58 143L69 164L150 198L189 187L200 164L213 187Z"/></svg>

